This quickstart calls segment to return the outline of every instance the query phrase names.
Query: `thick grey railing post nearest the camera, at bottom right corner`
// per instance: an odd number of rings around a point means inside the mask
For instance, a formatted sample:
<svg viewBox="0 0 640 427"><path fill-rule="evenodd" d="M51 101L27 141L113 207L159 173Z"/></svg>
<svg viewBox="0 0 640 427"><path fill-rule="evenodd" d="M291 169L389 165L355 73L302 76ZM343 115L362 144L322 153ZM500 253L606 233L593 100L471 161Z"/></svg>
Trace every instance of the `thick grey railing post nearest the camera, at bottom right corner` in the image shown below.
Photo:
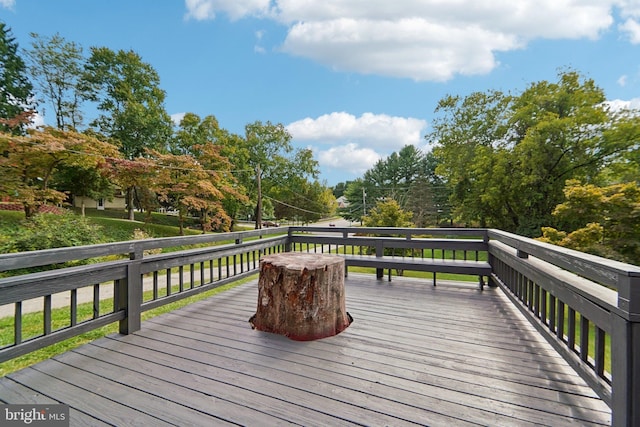
<svg viewBox="0 0 640 427"><path fill-rule="evenodd" d="M640 426L640 277L623 277L611 333L611 412L614 427Z"/></svg>

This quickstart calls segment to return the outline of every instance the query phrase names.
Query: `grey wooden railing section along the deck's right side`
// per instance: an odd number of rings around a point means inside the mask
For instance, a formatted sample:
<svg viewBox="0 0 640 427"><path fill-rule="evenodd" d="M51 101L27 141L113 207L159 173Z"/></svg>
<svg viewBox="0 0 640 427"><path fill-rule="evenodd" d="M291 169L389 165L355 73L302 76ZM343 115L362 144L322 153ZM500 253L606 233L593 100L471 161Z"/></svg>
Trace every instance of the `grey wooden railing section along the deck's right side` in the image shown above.
<svg viewBox="0 0 640 427"><path fill-rule="evenodd" d="M488 230L491 280L612 409L640 425L640 267Z"/></svg>

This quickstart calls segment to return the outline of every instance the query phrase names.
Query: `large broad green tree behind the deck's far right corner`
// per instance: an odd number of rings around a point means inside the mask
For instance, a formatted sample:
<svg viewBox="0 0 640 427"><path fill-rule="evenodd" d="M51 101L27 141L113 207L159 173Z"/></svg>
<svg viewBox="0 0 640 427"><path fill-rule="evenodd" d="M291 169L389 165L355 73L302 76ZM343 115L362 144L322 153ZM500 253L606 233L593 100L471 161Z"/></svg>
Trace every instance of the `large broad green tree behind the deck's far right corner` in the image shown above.
<svg viewBox="0 0 640 427"><path fill-rule="evenodd" d="M568 179L595 179L631 149L632 133L604 106L602 89L574 71L500 92L448 97L427 139L464 222L537 236L553 221Z"/></svg>

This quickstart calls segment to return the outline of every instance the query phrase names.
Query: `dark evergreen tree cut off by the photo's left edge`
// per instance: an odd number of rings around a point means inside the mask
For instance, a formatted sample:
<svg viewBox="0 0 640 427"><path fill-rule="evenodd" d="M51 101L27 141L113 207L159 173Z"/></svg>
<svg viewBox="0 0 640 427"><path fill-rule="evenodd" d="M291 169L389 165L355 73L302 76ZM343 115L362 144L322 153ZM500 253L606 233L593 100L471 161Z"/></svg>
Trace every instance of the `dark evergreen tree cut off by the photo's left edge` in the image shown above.
<svg viewBox="0 0 640 427"><path fill-rule="evenodd" d="M33 85L11 29L0 22L0 131L23 133L35 109Z"/></svg>

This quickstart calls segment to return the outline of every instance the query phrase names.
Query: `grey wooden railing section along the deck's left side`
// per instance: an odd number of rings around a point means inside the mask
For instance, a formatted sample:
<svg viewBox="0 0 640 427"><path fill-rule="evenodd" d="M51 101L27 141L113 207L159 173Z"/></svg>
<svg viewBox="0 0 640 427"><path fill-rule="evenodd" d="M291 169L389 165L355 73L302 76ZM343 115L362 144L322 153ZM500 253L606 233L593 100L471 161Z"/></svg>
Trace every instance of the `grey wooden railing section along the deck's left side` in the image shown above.
<svg viewBox="0 0 640 427"><path fill-rule="evenodd" d="M285 250L286 231L274 228L0 255L0 272L93 261L0 279L0 308L13 306L14 331L10 342L0 342L0 362L116 321L120 333L135 332L143 311L255 273L262 254ZM175 250L185 246L195 248ZM152 254L161 249L174 251ZM52 316L59 300L68 310L62 319ZM26 316L40 317L41 327L27 331L29 336L23 331Z"/></svg>

